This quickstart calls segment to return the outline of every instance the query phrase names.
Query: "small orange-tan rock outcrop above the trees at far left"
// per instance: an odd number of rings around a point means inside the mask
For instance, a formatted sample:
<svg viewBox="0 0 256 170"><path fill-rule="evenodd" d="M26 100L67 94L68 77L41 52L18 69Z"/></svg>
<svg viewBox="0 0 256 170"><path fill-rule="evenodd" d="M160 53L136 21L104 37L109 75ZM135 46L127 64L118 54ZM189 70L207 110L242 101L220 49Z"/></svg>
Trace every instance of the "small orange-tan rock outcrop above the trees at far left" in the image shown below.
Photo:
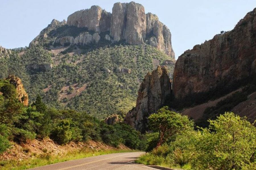
<svg viewBox="0 0 256 170"><path fill-rule="evenodd" d="M17 90L17 98L18 100L23 103L24 106L28 106L28 94L26 93L24 86L21 82L21 79L18 77L15 77L14 75L10 75L7 80L9 80L9 82L11 84L13 84L16 87Z"/></svg>

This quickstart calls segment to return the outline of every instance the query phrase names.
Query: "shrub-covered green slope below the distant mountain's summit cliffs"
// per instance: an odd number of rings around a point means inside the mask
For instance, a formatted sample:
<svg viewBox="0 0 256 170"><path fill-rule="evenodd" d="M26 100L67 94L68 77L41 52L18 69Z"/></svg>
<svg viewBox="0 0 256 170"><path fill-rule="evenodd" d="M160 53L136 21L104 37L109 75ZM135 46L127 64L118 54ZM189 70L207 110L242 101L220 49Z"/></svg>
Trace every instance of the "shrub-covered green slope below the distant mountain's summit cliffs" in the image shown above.
<svg viewBox="0 0 256 170"><path fill-rule="evenodd" d="M154 69L153 60L162 64L170 59L149 45L104 46L89 52L84 52L87 47L69 48L81 54L54 55L42 46L13 51L0 58L0 78L20 77L30 103L40 94L51 107L105 118L135 106L139 84ZM174 65L168 67L172 73Z"/></svg>

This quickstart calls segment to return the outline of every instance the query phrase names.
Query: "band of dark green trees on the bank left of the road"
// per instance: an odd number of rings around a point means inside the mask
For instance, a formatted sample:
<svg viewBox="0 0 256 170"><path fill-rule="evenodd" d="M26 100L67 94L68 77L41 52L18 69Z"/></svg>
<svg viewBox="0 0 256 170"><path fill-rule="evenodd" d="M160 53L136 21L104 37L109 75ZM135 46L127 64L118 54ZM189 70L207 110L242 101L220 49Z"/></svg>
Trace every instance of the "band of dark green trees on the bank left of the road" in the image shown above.
<svg viewBox="0 0 256 170"><path fill-rule="evenodd" d="M7 80L0 80L0 153L10 143L25 143L28 139L50 137L62 145L70 141L103 141L117 147L119 144L143 149L142 136L130 126L106 123L73 110L47 107L40 96L28 107L18 101L16 88Z"/></svg>

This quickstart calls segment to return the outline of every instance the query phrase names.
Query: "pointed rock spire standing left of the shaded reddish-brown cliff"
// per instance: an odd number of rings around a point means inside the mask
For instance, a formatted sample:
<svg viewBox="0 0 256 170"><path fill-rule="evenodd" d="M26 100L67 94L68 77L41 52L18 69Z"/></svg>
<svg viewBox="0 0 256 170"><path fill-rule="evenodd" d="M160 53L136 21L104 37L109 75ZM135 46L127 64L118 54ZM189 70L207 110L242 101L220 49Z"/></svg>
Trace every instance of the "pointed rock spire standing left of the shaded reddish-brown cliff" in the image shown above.
<svg viewBox="0 0 256 170"><path fill-rule="evenodd" d="M148 130L148 116L160 109L171 93L167 68L158 66L145 76L139 88L136 107L126 114L125 123L144 133Z"/></svg>

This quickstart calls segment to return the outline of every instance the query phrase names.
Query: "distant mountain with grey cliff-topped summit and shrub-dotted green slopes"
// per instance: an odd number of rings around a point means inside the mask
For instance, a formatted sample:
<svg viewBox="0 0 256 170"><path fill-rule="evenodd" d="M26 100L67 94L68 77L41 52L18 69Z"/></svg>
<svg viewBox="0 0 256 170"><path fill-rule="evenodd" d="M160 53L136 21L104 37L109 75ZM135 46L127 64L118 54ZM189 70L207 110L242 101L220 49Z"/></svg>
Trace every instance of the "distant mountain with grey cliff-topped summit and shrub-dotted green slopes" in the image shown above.
<svg viewBox="0 0 256 170"><path fill-rule="evenodd" d="M158 65L172 78L171 33L140 4L98 6L52 20L27 48L0 58L0 78L22 79L30 103L37 95L51 107L98 118L125 115L136 104L139 84Z"/></svg>

